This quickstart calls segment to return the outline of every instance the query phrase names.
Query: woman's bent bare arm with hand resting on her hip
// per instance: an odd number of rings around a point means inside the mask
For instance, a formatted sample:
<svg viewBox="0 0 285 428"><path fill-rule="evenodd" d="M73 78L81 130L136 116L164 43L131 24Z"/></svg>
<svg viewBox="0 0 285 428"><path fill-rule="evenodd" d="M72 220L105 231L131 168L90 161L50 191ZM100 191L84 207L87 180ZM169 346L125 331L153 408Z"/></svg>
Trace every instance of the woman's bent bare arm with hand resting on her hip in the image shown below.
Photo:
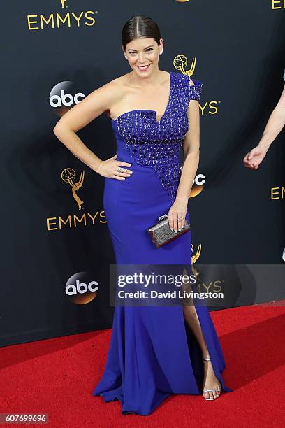
<svg viewBox="0 0 285 428"><path fill-rule="evenodd" d="M89 168L100 173L102 176L122 180L124 177L129 176L129 173L121 173L115 170L118 166L131 166L131 164L115 161L117 155L106 161L102 161L76 135L76 132L89 124L89 122L92 122L92 120L106 110L110 110L110 106L117 101L118 97L117 86L112 82L106 83L68 110L57 122L53 131L59 141L66 145L68 150L89 166Z"/></svg>

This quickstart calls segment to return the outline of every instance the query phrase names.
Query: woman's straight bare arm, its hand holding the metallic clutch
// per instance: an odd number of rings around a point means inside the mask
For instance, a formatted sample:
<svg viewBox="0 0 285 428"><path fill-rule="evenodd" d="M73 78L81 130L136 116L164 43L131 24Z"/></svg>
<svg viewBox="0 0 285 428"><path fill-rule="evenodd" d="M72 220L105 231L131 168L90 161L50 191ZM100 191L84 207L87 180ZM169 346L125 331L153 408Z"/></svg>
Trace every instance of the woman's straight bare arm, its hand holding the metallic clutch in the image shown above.
<svg viewBox="0 0 285 428"><path fill-rule="evenodd" d="M190 80L191 85L193 81ZM183 164L180 183L173 205L168 211L168 222L171 230L180 231L185 224L188 199L200 156L200 111L199 101L191 99L188 106L189 129L183 141Z"/></svg>

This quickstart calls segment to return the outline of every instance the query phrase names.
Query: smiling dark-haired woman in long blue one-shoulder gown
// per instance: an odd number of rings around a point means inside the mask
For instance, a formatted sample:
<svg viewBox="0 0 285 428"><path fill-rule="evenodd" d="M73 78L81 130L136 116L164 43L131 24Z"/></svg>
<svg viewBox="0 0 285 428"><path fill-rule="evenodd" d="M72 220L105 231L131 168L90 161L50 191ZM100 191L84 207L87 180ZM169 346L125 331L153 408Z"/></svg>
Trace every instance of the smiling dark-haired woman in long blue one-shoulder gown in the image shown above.
<svg viewBox="0 0 285 428"><path fill-rule="evenodd" d="M185 219L189 222L187 203L199 161L202 83L159 70L163 39L149 17L136 15L126 22L122 49L131 72L69 110L54 134L106 178L103 206L118 265L191 265L189 231L156 248L147 228L163 213L168 213L175 232ZM104 112L117 140L117 154L107 160L98 159L75 134ZM108 359L93 394L104 401L122 401L123 415L148 415L170 394L200 394L199 384L206 400L230 391L221 378L224 367L206 307L115 306Z"/></svg>

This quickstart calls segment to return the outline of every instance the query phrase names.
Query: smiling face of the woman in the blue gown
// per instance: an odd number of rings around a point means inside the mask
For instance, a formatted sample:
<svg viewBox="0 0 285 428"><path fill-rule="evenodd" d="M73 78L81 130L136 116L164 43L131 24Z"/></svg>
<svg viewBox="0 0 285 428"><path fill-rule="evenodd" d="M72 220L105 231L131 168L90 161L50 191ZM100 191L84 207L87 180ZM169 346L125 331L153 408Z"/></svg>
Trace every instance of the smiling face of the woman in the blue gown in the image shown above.
<svg viewBox="0 0 285 428"><path fill-rule="evenodd" d="M163 39L158 45L154 38L136 38L126 44L124 55L127 57L131 69L138 76L149 76L153 69L158 68L159 55L163 51Z"/></svg>

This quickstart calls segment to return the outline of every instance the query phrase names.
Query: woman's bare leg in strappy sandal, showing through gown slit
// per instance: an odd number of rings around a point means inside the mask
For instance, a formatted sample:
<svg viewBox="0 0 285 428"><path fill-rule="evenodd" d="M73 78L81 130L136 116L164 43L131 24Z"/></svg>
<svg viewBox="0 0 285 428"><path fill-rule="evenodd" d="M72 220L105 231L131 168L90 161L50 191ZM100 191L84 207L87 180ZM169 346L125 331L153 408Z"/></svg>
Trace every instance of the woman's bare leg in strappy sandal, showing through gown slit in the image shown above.
<svg viewBox="0 0 285 428"><path fill-rule="evenodd" d="M187 273L185 273L187 275ZM182 289L186 290L187 292L190 292L192 290L191 284L186 283L182 285ZM184 318L189 325L193 335L196 337L201 351L203 358L210 358L209 352L207 350L207 345L205 343L205 339L203 336L203 332L200 326L199 318L196 312L195 305L193 304L193 300L191 298L184 299L183 304L183 314ZM212 368L212 363L210 361L203 361L204 363L204 381L203 381L203 390L210 390L212 388L221 389L221 384L219 383L219 380L214 374L214 370ZM205 392L203 395L205 398L215 398L219 396L218 391L212 391L212 392Z"/></svg>

